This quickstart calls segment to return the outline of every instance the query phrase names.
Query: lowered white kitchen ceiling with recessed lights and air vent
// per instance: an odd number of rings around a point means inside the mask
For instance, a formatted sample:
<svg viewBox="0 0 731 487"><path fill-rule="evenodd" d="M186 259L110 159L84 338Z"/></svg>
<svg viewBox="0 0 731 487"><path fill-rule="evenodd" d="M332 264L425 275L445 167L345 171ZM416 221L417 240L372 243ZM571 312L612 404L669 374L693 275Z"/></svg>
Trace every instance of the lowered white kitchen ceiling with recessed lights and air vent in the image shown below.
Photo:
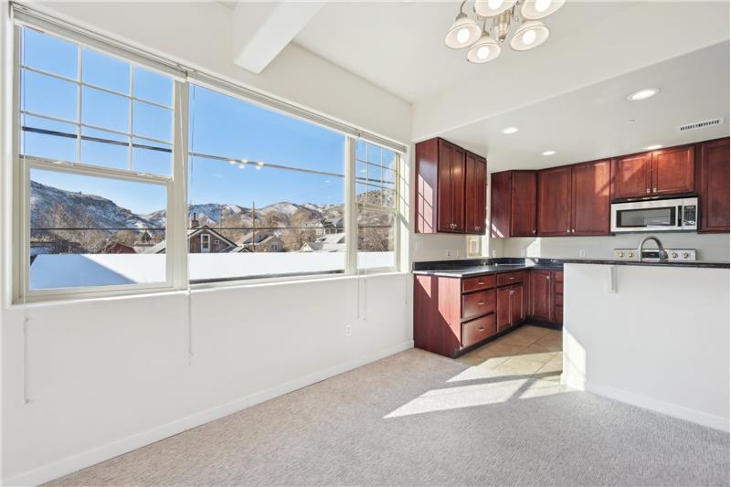
<svg viewBox="0 0 731 487"><path fill-rule="evenodd" d="M660 88L645 101L627 95ZM724 117L693 132L677 127ZM724 42L550 100L472 123L443 136L486 154L490 172L540 169L641 152L651 144L693 143L729 133L729 44ZM625 121L634 120L634 123ZM503 128L516 126L513 135ZM556 155L543 156L546 150Z"/></svg>

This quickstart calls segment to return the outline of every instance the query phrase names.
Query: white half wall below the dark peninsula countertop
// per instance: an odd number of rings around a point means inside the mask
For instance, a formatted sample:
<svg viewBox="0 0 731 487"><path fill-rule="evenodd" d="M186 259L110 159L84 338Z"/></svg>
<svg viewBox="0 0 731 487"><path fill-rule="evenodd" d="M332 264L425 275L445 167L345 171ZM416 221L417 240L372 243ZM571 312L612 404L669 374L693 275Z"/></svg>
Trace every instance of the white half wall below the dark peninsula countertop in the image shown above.
<svg viewBox="0 0 731 487"><path fill-rule="evenodd" d="M564 383L729 429L727 269L566 264L564 272Z"/></svg>

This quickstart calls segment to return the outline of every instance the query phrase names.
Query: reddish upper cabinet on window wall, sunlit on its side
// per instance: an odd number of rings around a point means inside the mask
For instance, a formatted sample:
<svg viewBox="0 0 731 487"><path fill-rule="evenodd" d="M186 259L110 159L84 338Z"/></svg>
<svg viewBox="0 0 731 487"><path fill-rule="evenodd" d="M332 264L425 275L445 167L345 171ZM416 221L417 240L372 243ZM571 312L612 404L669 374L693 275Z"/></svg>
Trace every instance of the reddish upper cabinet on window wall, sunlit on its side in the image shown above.
<svg viewBox="0 0 731 487"><path fill-rule="evenodd" d="M417 143L417 233L485 230L487 163L442 139Z"/></svg>

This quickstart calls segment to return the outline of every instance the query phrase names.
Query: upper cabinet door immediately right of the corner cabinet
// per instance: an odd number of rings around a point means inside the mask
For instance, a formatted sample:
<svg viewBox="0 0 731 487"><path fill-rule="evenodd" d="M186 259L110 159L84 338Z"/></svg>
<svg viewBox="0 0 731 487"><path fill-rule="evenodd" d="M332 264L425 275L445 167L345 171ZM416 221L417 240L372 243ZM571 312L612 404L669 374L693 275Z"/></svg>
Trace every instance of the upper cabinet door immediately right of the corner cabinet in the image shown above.
<svg viewBox="0 0 731 487"><path fill-rule="evenodd" d="M571 233L571 167L538 171L538 235Z"/></svg>

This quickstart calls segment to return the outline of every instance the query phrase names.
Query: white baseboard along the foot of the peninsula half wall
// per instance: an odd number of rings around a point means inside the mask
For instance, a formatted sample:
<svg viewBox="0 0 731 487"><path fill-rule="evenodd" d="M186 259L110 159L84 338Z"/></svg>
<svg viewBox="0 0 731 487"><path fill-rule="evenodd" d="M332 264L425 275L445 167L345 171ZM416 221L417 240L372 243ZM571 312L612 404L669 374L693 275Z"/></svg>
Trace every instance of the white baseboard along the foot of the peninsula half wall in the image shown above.
<svg viewBox="0 0 731 487"><path fill-rule="evenodd" d="M569 385L567 384L567 386ZM686 421L707 426L708 428L720 429L726 432L729 430L728 418L714 416L697 409L685 408L684 406L668 403L653 397L642 396L640 394L617 389L615 387L592 384L590 382L586 384L586 390L598 396L609 397L610 399L631 404L632 406L650 409L652 411L672 416L673 418L685 419Z"/></svg>

